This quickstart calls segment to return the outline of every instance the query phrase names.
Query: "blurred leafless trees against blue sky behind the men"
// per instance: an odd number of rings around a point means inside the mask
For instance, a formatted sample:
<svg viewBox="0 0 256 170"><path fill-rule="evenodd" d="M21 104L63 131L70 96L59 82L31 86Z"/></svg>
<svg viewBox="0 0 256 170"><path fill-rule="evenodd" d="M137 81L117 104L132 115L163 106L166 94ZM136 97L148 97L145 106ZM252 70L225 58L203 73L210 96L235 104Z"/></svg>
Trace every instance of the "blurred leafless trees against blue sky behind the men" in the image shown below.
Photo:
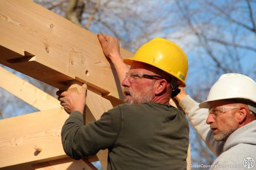
<svg viewBox="0 0 256 170"><path fill-rule="evenodd" d="M180 45L188 56L187 91L198 102L212 84L227 72L256 78L255 1L137 1L137 0L34 0L94 33L111 34L122 47L135 52L153 37ZM54 96L56 89L22 75ZM0 92L2 117L14 98ZM10 98L9 98L10 97ZM8 100L7 100L8 98ZM11 101L10 101L11 100ZM24 104L21 104L24 105ZM20 105L20 106L21 106ZM9 107L9 106L8 106ZM31 108L30 108L31 109ZM4 115L4 116L3 116ZM214 156L191 129L193 163L210 164Z"/></svg>

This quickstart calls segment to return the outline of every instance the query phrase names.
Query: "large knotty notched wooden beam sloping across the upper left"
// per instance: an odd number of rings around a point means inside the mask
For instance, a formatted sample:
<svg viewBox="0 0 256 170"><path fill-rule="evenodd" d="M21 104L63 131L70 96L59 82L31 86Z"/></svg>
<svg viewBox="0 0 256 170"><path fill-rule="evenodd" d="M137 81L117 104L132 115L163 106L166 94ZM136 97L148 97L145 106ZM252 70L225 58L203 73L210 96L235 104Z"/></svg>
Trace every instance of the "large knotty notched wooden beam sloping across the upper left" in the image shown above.
<svg viewBox="0 0 256 170"><path fill-rule="evenodd" d="M0 1L0 11L0 63L57 88L76 79L122 97L95 34L29 0Z"/></svg>

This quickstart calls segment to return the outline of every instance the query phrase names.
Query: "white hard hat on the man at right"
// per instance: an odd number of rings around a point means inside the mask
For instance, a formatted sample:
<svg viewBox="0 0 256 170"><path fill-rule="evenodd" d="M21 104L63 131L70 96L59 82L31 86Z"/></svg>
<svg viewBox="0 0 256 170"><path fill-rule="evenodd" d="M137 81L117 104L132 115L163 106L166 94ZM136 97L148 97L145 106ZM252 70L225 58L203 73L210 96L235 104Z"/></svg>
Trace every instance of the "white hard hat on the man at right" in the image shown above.
<svg viewBox="0 0 256 170"><path fill-rule="evenodd" d="M256 105L256 84L255 82L241 74L225 74L211 87L207 100L200 103L200 108L209 108L208 102L223 99L249 100L250 110L254 110Z"/></svg>

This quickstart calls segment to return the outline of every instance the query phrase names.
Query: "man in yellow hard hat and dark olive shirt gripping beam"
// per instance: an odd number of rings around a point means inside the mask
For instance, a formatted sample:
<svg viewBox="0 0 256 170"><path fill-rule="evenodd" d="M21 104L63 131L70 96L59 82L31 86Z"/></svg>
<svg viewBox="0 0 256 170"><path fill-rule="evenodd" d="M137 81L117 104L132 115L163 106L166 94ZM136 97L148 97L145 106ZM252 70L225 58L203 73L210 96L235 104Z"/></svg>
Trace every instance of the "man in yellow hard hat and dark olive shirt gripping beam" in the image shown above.
<svg viewBox="0 0 256 170"><path fill-rule="evenodd" d="M126 104L83 126L87 87L76 95L59 94L70 113L61 131L67 155L80 159L108 149L108 169L186 169L188 123L184 113L169 105L178 87L186 86L184 52L171 41L155 38L133 58L122 60L115 38L103 34L98 38L105 56L116 66Z"/></svg>

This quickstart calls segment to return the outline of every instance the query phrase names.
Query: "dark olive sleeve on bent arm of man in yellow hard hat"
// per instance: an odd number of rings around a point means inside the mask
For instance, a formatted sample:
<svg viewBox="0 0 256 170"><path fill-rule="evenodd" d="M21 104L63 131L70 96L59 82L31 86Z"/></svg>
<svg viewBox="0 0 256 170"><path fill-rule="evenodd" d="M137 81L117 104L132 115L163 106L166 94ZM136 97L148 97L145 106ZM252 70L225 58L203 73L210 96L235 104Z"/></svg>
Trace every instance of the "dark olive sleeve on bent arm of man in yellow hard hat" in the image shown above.
<svg viewBox="0 0 256 170"><path fill-rule="evenodd" d="M99 120L84 126L82 114L73 111L61 130L65 153L74 159L81 159L110 148L120 131L120 114L116 107L103 113Z"/></svg>

